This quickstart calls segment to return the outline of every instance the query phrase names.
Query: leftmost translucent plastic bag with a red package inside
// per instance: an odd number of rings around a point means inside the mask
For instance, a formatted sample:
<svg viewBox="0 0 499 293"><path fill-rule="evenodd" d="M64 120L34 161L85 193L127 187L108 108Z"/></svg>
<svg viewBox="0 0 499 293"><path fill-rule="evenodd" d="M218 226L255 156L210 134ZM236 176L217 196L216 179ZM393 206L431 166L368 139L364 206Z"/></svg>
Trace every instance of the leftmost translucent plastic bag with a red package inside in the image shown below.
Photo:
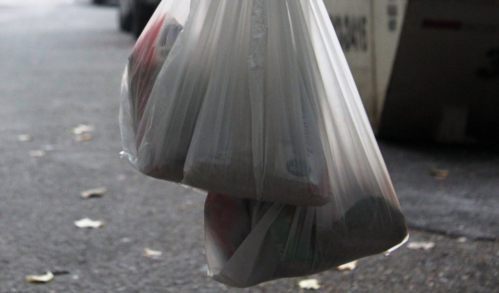
<svg viewBox="0 0 499 293"><path fill-rule="evenodd" d="M192 72L198 71L199 67L193 62L199 62L202 55L196 54L199 58L188 60L188 52L175 53L182 51L177 40L189 15L189 0L161 1L128 58L121 84L122 156L128 157L133 166L146 175L175 182L183 178L185 156L192 137L182 125L190 123L193 129L195 124L195 118L189 119L189 109L175 107L178 99L191 97L194 86L185 94L179 89L181 83L187 84L181 80L180 69L161 72L173 62L172 66L183 68L184 74L190 72L192 79L194 76L200 79L200 74ZM199 33L192 31L184 42L191 40L192 43L198 36ZM193 45L189 47L194 48ZM169 58L172 55L177 58L172 60ZM191 85L194 84L201 82L193 80ZM198 95L202 96L202 93Z"/></svg>

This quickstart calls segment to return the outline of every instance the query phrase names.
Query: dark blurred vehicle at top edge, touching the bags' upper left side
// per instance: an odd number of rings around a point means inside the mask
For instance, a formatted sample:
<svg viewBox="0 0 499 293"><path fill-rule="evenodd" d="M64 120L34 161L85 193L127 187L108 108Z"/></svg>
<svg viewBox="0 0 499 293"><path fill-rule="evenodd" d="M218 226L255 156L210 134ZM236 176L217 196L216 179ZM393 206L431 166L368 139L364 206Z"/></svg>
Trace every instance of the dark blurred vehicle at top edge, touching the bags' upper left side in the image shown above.
<svg viewBox="0 0 499 293"><path fill-rule="evenodd" d="M160 2L161 0L119 0L120 29L139 37Z"/></svg>

